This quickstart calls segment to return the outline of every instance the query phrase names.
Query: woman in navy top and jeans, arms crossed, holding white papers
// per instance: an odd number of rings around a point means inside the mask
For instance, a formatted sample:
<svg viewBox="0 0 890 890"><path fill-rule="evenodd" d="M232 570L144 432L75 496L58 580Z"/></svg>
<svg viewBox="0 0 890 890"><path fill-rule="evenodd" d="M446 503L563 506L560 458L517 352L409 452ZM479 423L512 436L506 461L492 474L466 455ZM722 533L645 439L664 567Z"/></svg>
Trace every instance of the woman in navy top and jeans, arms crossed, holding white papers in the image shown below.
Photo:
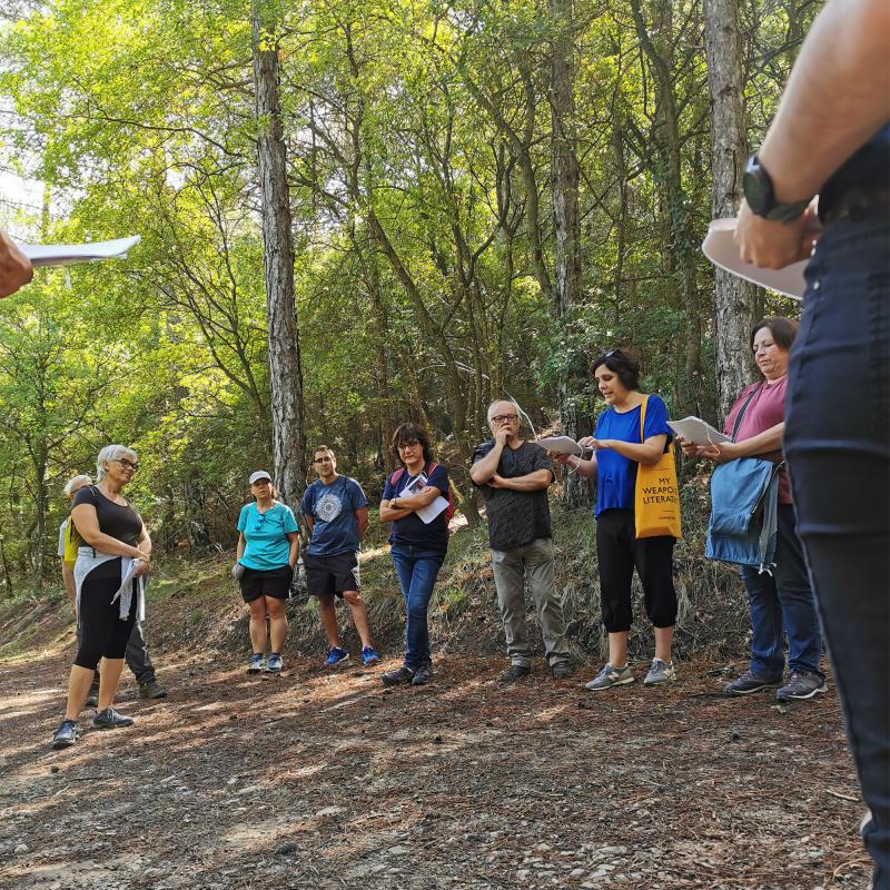
<svg viewBox="0 0 890 890"><path fill-rule="evenodd" d="M429 438L417 424L402 424L390 452L402 466L386 479L380 520L393 523L393 563L405 600L405 660L383 675L385 686L421 686L433 676L427 611L448 550L448 473L433 461Z"/></svg>

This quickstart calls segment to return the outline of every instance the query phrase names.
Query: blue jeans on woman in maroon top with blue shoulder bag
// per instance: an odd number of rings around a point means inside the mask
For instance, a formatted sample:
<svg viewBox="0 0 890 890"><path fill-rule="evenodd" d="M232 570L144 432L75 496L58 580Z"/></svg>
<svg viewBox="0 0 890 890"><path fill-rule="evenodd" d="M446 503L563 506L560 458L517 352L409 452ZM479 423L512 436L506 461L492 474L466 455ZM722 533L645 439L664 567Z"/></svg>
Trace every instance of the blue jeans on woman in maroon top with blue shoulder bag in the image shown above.
<svg viewBox="0 0 890 890"><path fill-rule="evenodd" d="M779 505L773 574L759 574L750 565L740 571L751 610L752 673L777 680L782 676L788 634L789 670L809 671L824 679L819 670L822 633L791 504Z"/></svg>

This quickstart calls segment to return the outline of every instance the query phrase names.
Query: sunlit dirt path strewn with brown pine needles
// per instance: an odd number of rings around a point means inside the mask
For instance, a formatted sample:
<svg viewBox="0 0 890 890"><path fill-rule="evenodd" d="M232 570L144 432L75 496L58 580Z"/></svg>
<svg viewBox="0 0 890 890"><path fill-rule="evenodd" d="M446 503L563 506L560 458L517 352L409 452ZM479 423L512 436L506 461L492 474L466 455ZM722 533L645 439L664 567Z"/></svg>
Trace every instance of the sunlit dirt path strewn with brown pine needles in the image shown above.
<svg viewBox="0 0 890 890"><path fill-rule="evenodd" d="M708 664L594 696L540 664L500 689L501 660L393 692L355 666L158 661L169 699L126 680L136 726L63 752L67 653L3 666L0 887L867 884L833 693L725 700Z"/></svg>

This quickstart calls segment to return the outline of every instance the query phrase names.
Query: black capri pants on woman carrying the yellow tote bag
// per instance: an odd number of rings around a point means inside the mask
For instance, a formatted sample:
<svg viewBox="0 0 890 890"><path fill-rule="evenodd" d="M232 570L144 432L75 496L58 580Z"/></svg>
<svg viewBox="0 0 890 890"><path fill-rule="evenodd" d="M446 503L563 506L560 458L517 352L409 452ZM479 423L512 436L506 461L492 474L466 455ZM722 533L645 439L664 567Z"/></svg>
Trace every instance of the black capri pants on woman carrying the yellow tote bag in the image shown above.
<svg viewBox="0 0 890 890"><path fill-rule="evenodd" d="M655 627L676 623L673 537L636 538L632 510L606 510L596 517L596 556L600 563L600 603L609 633L631 630L633 570L643 585L646 614Z"/></svg>

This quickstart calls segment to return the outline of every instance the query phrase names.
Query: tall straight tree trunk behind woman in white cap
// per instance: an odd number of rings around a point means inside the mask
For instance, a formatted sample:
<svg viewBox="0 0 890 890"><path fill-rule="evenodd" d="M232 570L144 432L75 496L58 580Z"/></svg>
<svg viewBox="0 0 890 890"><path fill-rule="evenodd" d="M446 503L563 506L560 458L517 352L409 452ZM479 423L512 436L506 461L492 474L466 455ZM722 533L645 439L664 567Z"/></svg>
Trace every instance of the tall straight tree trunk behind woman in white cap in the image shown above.
<svg viewBox="0 0 890 890"><path fill-rule="evenodd" d="M306 487L303 369L294 291L294 244L287 152L281 125L278 43L264 0L253 0L250 20L256 93L257 158L263 197L263 244L268 309L269 382L275 483L293 508Z"/></svg>

